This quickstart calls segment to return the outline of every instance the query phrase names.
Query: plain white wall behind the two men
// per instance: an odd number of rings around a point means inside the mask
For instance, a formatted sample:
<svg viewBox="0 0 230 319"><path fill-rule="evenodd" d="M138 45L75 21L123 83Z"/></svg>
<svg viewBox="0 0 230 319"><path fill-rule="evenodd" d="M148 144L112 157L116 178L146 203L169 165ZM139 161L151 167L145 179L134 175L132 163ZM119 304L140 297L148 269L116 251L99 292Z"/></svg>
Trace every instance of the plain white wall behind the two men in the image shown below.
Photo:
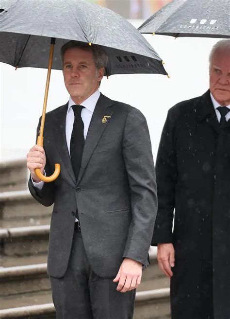
<svg viewBox="0 0 230 319"><path fill-rule="evenodd" d="M133 21L132 21L133 22ZM142 21L135 20L138 27ZM178 38L145 35L165 62L170 79L163 75L113 75L103 79L101 92L139 108L146 116L154 158L167 110L175 103L198 96L209 86L208 55L217 41L211 38ZM26 156L35 142L42 112L46 70L0 63L0 160ZM52 71L48 108L68 100L61 71Z"/></svg>

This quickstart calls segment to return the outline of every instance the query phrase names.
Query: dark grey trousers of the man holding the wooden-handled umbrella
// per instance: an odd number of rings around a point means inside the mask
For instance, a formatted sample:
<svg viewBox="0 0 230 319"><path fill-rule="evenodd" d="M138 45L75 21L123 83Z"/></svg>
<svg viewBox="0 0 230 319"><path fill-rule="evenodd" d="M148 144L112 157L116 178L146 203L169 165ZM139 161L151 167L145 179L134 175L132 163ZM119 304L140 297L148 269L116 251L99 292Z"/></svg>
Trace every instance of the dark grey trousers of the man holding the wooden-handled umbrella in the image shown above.
<svg viewBox="0 0 230 319"><path fill-rule="evenodd" d="M92 271L82 235L75 230L64 277L50 276L56 319L132 319L135 290L121 293L113 279Z"/></svg>

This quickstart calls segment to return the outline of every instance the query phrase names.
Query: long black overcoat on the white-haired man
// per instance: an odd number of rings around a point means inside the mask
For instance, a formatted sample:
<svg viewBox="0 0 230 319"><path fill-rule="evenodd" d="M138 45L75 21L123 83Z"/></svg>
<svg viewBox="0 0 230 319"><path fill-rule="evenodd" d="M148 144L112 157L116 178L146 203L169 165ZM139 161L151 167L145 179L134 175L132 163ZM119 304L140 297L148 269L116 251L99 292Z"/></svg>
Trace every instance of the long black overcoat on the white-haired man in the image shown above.
<svg viewBox="0 0 230 319"><path fill-rule="evenodd" d="M230 319L230 121L210 91L168 111L156 173L152 245L175 247L172 319Z"/></svg>

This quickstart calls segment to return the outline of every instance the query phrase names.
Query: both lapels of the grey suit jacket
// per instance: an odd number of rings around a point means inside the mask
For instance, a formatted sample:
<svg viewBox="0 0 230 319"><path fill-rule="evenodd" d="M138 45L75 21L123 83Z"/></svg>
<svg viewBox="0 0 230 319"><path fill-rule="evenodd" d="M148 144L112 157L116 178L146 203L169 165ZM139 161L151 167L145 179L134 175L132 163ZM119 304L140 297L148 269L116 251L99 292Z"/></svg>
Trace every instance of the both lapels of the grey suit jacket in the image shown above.
<svg viewBox="0 0 230 319"><path fill-rule="evenodd" d="M64 176L64 178L66 177L66 180L70 183L72 187L76 187L76 185L80 182L82 175L87 167L87 164L93 154L93 151L97 146L100 137L110 120L110 118L107 118L106 122L103 123L102 119L105 115L109 117L112 116L112 109L110 109L109 106L112 106L114 104L115 101L112 101L103 94L100 94L84 143L84 149L82 154L82 167L79 173L78 181L76 181L76 178L74 176L66 142L66 112L68 108L68 103L57 109L56 114L54 114L54 138L63 165L65 165L67 171L68 176Z"/></svg>

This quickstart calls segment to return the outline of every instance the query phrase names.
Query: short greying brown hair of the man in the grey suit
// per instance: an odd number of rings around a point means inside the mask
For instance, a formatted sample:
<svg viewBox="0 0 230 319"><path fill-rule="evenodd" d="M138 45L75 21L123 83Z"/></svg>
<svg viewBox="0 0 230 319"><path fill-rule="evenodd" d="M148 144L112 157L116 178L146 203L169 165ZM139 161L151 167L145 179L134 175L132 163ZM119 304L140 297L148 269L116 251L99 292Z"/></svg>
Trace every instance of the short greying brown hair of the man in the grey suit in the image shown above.
<svg viewBox="0 0 230 319"><path fill-rule="evenodd" d="M68 41L66 42L62 48L61 48L61 56L62 56L62 62L64 59L64 54L67 49L70 48L79 48L85 51L91 51L94 56L94 62L96 69L106 68L108 64L108 55L105 53L105 51L102 49L100 45L92 44L91 46L88 43L80 42L80 41Z"/></svg>

